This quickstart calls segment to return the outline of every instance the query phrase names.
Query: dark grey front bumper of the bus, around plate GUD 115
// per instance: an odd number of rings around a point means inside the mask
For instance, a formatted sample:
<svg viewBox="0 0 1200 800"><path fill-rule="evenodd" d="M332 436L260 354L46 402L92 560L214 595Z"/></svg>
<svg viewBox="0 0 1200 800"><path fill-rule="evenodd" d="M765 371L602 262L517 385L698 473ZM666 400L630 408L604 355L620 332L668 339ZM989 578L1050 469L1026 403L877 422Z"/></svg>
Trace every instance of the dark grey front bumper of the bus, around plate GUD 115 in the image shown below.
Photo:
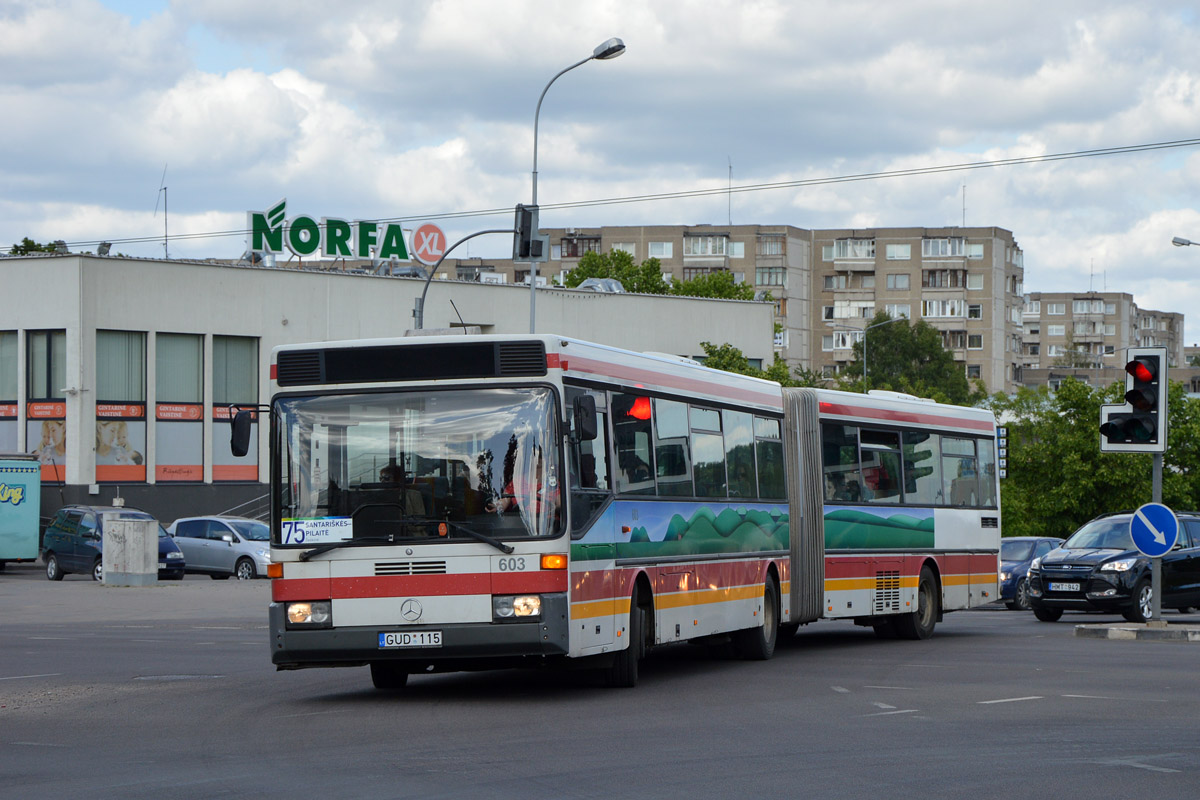
<svg viewBox="0 0 1200 800"><path fill-rule="evenodd" d="M408 662L413 672L521 664L568 651L566 594L544 594L542 613L528 622L456 622L289 628L284 603L270 604L271 663L278 669L358 667L372 661ZM440 632L440 646L382 648L380 633Z"/></svg>

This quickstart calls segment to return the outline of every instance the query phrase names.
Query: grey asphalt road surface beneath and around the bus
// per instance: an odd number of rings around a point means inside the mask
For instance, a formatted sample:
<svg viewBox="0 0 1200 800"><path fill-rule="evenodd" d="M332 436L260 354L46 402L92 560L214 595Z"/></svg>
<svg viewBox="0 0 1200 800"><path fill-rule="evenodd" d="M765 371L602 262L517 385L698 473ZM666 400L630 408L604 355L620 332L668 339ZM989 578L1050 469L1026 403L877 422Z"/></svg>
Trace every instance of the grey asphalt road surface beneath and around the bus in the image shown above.
<svg viewBox="0 0 1200 800"><path fill-rule="evenodd" d="M634 690L508 670L386 693L276 673L268 600L0 573L0 796L1200 794L1200 646L1073 636L1114 616L960 612L926 642L818 622L768 662L662 648Z"/></svg>

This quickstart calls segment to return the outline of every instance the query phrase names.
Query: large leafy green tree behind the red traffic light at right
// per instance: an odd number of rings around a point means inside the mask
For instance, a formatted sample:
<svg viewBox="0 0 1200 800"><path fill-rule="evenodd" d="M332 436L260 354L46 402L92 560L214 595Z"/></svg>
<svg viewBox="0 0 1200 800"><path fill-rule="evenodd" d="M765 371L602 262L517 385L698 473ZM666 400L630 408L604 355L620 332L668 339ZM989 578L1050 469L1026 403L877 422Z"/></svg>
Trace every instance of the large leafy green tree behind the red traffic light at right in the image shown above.
<svg viewBox="0 0 1200 800"><path fill-rule="evenodd" d="M1054 392L1021 389L988 401L1008 428L1006 535L1067 536L1100 513L1150 503L1152 457L1099 447L1100 405L1121 403L1123 395L1124 383L1093 389L1068 378ZM1171 384L1168 419L1163 501L1200 509L1200 399Z"/></svg>

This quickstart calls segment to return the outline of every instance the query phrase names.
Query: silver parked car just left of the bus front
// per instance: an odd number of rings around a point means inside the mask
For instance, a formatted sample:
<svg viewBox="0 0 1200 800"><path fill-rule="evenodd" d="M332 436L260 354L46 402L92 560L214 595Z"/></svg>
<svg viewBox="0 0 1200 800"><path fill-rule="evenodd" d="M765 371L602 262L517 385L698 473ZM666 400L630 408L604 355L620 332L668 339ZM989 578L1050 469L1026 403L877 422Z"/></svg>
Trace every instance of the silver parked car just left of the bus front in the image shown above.
<svg viewBox="0 0 1200 800"><path fill-rule="evenodd" d="M187 559L188 572L250 581L265 578L271 564L270 529L245 517L184 517L167 533Z"/></svg>

